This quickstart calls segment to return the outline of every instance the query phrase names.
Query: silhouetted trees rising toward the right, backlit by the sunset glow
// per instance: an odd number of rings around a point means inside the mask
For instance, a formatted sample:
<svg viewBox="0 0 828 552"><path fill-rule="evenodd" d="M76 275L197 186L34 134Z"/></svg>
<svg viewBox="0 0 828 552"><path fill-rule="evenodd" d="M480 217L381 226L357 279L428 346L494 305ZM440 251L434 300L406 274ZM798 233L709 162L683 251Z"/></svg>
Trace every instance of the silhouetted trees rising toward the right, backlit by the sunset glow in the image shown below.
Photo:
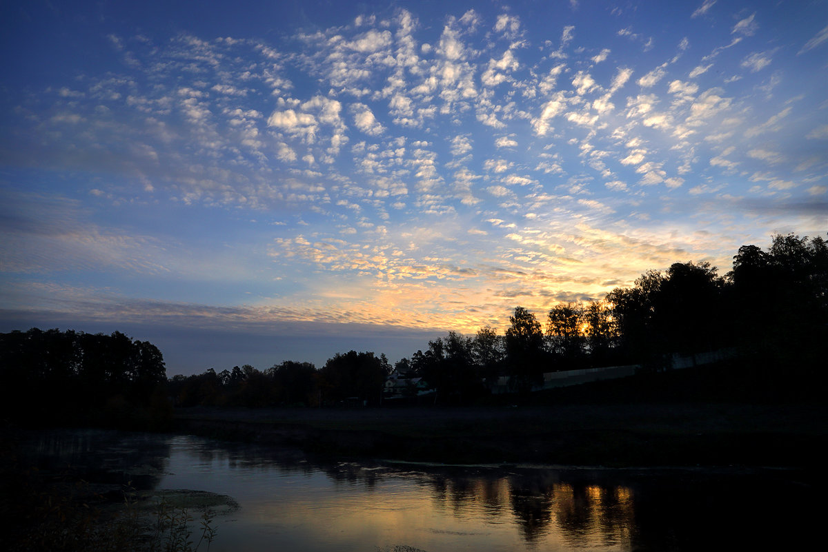
<svg viewBox="0 0 828 552"><path fill-rule="evenodd" d="M286 361L263 372L247 365L176 376L171 390L181 406L377 404L396 370L422 378L436 402L467 404L489 396L502 376L511 391L525 394L546 372L619 364L657 371L669 368L674 354L723 349L738 351L769 382L773 374L807 381L826 342L828 245L789 234L773 236L768 250L740 247L727 274L692 261L647 270L632 287L603 300L561 303L542 321L516 307L503 335L489 326L475 335L450 331L393 367L384 355L352 350L319 370Z"/></svg>

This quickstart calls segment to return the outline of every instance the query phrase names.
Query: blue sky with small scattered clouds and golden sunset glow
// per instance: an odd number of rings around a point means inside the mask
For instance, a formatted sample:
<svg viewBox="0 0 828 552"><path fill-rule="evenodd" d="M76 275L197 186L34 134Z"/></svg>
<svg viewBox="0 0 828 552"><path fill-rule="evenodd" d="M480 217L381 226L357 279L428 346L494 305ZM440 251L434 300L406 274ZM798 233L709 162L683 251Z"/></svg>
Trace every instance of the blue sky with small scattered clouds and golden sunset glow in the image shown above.
<svg viewBox="0 0 828 552"><path fill-rule="evenodd" d="M825 0L0 10L0 331L394 362L828 231Z"/></svg>

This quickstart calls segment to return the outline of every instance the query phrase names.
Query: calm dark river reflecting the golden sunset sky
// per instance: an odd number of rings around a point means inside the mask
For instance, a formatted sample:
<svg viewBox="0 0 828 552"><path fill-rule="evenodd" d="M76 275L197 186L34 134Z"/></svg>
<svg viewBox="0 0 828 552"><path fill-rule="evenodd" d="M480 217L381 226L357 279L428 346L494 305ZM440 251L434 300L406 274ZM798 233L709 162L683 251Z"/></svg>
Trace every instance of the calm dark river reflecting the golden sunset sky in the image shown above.
<svg viewBox="0 0 828 552"><path fill-rule="evenodd" d="M824 540L821 479L787 469L315 461L189 435L36 434L32 458L157 495L232 497L211 551L795 550ZM205 550L205 547L202 547Z"/></svg>

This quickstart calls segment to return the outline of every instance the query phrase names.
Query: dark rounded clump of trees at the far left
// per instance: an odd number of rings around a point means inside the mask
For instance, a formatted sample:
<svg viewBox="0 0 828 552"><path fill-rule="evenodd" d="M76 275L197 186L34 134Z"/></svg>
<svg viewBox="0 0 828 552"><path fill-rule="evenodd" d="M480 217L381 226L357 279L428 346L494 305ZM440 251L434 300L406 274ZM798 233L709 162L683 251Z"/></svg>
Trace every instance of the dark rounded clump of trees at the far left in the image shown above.
<svg viewBox="0 0 828 552"><path fill-rule="evenodd" d="M136 415L148 422L167 414L161 351L120 331L0 334L0 381L0 412L12 419L123 425Z"/></svg>

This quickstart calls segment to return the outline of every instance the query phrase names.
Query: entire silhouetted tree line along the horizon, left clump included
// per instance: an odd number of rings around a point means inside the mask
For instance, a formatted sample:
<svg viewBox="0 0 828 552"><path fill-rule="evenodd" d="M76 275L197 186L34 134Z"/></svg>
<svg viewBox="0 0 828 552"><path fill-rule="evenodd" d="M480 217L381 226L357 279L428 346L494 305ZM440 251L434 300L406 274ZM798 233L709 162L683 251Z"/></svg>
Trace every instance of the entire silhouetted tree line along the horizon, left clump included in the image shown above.
<svg viewBox="0 0 828 552"><path fill-rule="evenodd" d="M286 360L263 371L245 364L167 380L161 352L147 341L31 329L0 334L0 370L4 406L22 402L29 412L152 410L153 396L156 410L159 397L181 407L378 404L393 371L421 378L433 402L469 404L504 381L526 394L546 372L619 364L657 371L676 353L722 349L738 351L768 385L808 382L821 377L826 343L828 245L789 234L773 236L767 250L743 245L724 275L692 261L647 270L603 300L561 303L540 321L516 307L503 335L489 326L474 335L450 331L393 365L351 350L320 369Z"/></svg>

